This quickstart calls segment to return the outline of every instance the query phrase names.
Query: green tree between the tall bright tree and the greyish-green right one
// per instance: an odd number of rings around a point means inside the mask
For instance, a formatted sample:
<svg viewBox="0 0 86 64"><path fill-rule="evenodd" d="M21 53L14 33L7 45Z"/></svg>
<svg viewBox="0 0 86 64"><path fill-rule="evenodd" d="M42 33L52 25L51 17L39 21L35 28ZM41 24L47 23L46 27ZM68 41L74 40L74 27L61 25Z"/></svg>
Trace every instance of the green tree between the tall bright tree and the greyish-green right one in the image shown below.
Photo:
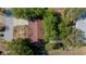
<svg viewBox="0 0 86 64"><path fill-rule="evenodd" d="M59 24L59 30L60 30L60 38L64 39L67 37L67 35L72 31L72 26L69 26L70 20L67 17L63 18L62 22Z"/></svg>

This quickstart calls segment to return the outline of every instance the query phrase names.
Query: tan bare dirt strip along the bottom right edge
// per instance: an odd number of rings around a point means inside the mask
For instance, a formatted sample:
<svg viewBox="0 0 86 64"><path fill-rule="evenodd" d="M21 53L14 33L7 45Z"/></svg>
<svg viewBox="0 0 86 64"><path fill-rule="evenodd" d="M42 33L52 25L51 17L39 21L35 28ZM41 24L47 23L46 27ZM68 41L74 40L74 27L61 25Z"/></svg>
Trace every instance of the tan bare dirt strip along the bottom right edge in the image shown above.
<svg viewBox="0 0 86 64"><path fill-rule="evenodd" d="M86 55L86 47L74 48L69 51L51 50L48 53L49 55Z"/></svg>

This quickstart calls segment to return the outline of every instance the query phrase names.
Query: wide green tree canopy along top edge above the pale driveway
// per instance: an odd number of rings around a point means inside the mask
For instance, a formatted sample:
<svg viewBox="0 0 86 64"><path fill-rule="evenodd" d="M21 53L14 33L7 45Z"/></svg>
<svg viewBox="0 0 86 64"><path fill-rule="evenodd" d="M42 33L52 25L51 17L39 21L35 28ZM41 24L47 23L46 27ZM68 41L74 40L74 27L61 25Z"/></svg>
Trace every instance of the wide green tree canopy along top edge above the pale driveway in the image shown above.
<svg viewBox="0 0 86 64"><path fill-rule="evenodd" d="M45 8L16 8L12 9L12 13L15 17L35 20L42 18L45 10Z"/></svg>

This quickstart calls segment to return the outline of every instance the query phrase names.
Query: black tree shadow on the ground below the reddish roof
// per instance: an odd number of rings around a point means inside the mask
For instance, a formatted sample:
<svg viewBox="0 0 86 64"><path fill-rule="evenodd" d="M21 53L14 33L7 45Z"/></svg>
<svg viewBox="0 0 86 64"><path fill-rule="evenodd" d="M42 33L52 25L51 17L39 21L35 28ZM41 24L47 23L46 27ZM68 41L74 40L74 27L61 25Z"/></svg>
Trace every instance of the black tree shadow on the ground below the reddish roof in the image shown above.
<svg viewBox="0 0 86 64"><path fill-rule="evenodd" d="M30 42L29 44L32 51L34 52L34 55L48 55L45 46L46 42L41 39L35 42Z"/></svg>

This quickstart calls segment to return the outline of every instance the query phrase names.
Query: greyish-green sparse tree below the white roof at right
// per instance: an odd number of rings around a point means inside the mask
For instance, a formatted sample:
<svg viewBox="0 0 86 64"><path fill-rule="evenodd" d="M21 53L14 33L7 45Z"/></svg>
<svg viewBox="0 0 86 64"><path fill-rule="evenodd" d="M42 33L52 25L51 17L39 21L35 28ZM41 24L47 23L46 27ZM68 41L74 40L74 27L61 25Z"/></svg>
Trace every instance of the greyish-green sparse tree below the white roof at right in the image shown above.
<svg viewBox="0 0 86 64"><path fill-rule="evenodd" d="M73 31L65 38L65 41L70 47L81 47L85 44L83 37L83 31L74 28Z"/></svg>

